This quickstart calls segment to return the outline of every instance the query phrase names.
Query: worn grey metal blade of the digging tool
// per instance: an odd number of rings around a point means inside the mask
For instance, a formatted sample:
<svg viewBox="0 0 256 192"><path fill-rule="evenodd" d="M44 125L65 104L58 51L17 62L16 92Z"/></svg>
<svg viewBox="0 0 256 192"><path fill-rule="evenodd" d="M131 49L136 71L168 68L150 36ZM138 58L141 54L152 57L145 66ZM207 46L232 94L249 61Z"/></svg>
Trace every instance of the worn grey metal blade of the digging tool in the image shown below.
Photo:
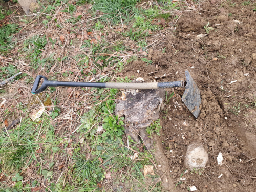
<svg viewBox="0 0 256 192"><path fill-rule="evenodd" d="M186 89L181 100L185 103L189 111L198 118L200 113L201 95L197 84L189 74L188 70L185 71L186 75Z"/></svg>

